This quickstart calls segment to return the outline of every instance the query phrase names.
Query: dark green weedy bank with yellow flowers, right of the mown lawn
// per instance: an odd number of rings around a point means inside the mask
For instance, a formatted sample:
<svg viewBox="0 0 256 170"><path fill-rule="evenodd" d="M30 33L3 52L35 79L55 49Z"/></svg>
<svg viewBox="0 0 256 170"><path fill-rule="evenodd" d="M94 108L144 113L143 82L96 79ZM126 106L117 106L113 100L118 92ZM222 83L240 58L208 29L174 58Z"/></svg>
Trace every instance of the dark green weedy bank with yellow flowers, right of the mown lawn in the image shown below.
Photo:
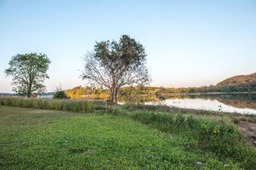
<svg viewBox="0 0 256 170"><path fill-rule="evenodd" d="M217 157L227 157L241 162L243 167L255 167L255 149L232 124L210 119L198 119L182 114L139 111L133 114L135 120L148 124L169 134L179 134L187 139L190 151L215 153Z"/></svg>

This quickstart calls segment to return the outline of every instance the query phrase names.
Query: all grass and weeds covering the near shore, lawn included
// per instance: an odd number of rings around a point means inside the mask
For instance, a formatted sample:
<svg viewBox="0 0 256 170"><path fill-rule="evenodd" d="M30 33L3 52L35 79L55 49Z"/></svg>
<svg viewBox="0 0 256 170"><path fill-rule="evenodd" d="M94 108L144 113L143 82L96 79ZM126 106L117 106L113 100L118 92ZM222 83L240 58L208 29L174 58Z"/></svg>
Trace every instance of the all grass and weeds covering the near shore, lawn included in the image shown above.
<svg viewBox="0 0 256 170"><path fill-rule="evenodd" d="M82 101L0 97L0 169L256 169L236 115L88 102L92 114L27 109L47 102Z"/></svg>

